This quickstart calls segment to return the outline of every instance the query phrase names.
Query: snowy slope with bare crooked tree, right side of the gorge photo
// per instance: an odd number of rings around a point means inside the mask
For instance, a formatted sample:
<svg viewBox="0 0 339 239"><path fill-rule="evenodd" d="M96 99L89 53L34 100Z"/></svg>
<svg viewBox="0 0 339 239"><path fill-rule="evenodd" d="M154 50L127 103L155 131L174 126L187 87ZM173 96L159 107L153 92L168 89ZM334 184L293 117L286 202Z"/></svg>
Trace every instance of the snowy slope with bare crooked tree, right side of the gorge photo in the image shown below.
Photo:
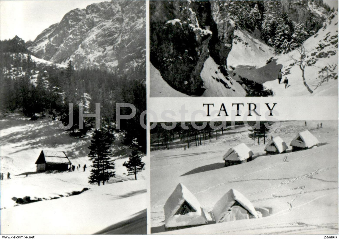
<svg viewBox="0 0 339 239"><path fill-rule="evenodd" d="M305 59L314 59L312 65L305 68L306 83L314 93L307 91L302 81L302 72L291 59L300 58L297 50L274 57L277 64L283 65L283 79L288 78L288 88L285 89L283 84L279 85L278 79L268 81L263 86L272 89L276 96L338 95L338 11L332 13L323 27L303 45L306 52L309 52Z"/></svg>

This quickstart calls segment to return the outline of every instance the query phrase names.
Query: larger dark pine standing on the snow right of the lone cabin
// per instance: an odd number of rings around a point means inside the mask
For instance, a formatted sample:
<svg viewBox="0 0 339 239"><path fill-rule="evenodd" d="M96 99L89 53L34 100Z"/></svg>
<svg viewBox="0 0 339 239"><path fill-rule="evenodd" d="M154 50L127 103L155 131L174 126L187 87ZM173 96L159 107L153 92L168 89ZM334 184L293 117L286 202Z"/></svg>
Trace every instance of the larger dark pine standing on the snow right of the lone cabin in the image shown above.
<svg viewBox="0 0 339 239"><path fill-rule="evenodd" d="M106 133L102 130L95 130L89 145L90 152L88 153L89 161L92 162L91 175L89 183L94 184L100 182L105 185L105 182L115 176L115 163L111 159L112 151L109 147L114 141L114 135Z"/></svg>

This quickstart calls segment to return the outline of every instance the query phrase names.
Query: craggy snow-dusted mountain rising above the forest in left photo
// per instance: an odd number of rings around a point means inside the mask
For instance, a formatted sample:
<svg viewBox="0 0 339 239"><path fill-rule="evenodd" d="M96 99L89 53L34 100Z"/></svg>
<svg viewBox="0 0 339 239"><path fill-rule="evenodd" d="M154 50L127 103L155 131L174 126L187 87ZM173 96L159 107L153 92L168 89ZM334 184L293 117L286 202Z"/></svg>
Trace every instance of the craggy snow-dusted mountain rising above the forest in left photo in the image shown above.
<svg viewBox="0 0 339 239"><path fill-rule="evenodd" d="M111 1L68 12L27 47L37 57L76 68L145 75L145 2Z"/></svg>

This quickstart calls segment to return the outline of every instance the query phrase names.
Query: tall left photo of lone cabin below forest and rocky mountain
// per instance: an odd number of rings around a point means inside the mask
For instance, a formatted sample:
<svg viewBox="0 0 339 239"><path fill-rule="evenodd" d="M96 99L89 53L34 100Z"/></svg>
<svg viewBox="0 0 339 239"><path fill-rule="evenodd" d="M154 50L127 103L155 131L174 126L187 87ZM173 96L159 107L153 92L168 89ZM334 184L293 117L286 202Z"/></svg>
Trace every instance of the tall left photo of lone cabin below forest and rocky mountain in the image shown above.
<svg viewBox="0 0 339 239"><path fill-rule="evenodd" d="M0 11L1 234L147 234L145 1Z"/></svg>

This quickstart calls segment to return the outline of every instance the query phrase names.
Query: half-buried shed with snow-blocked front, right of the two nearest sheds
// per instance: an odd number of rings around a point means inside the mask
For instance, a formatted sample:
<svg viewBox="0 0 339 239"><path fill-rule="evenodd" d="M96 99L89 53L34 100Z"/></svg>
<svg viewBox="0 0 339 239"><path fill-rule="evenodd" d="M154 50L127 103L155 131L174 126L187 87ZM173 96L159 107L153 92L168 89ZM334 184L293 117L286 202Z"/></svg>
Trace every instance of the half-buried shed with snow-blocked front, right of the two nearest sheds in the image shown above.
<svg viewBox="0 0 339 239"><path fill-rule="evenodd" d="M258 218L253 204L233 188L219 199L212 212L216 223Z"/></svg>

